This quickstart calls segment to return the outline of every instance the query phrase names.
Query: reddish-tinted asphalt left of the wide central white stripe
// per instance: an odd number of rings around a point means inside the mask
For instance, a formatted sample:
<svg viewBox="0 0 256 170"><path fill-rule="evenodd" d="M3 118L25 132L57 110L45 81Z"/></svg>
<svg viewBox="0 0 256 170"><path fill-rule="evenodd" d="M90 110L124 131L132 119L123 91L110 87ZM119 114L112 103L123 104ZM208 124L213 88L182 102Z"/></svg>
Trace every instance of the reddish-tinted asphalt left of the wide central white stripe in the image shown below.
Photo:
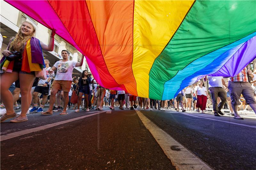
<svg viewBox="0 0 256 170"><path fill-rule="evenodd" d="M28 122L1 123L1 133L85 114L29 115ZM136 112L118 110L2 141L1 169L175 168Z"/></svg>

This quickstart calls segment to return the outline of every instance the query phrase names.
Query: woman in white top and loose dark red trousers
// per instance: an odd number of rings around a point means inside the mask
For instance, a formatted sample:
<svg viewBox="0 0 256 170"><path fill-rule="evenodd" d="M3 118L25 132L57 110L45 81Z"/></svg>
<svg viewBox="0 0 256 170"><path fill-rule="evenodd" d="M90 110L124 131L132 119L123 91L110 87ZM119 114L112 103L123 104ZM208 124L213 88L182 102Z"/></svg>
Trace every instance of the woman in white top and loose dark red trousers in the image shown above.
<svg viewBox="0 0 256 170"><path fill-rule="evenodd" d="M196 93L196 107L197 107L197 112L199 112L199 108L201 108L202 113L204 113L204 110L206 108L206 102L207 102L207 90L204 86L203 80L200 80L195 87L195 93Z"/></svg>

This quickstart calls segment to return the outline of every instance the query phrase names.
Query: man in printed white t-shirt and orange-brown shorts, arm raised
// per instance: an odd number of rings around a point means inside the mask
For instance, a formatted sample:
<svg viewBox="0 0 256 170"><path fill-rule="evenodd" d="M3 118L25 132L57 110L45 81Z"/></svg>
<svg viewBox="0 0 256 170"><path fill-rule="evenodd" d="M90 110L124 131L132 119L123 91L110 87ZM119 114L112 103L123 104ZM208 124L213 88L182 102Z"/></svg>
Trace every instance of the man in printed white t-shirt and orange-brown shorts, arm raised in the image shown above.
<svg viewBox="0 0 256 170"><path fill-rule="evenodd" d="M57 73L52 84L49 109L46 112L43 112L42 115L52 115L52 107L55 102L55 95L59 90L63 90L64 92L64 109L60 115L68 114L66 111L68 106L68 92L72 84L72 71L74 67L80 67L83 65L84 55L82 55L82 59L79 63L76 61L68 61L69 52L67 50L62 50L61 56L63 60L57 61L52 66L52 69L49 70L50 74L52 74L55 70L57 70Z"/></svg>

